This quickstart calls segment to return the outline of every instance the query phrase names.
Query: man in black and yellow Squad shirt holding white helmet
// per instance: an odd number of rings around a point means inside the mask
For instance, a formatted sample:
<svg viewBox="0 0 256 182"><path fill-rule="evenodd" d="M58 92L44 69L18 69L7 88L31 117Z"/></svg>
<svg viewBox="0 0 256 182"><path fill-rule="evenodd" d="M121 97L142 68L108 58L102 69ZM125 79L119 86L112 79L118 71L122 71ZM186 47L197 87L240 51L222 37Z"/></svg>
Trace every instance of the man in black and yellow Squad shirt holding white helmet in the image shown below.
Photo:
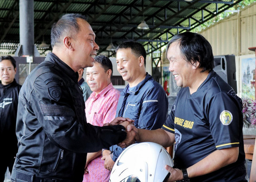
<svg viewBox="0 0 256 182"><path fill-rule="evenodd" d="M197 33L175 35L167 48L169 70L182 87L161 129L132 125L137 142L175 146L168 181L246 182L242 102L214 71L210 43ZM134 138L128 138L131 142ZM126 146L124 141L120 146Z"/></svg>

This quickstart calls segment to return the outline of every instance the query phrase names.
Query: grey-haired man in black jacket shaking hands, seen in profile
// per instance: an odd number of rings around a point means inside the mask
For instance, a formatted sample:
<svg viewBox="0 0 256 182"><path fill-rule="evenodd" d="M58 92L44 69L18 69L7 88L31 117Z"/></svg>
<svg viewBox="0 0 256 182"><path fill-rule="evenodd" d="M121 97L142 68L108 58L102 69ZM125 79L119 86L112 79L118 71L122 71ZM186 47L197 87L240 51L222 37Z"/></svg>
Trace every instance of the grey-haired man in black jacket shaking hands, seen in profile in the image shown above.
<svg viewBox="0 0 256 182"><path fill-rule="evenodd" d="M93 66L99 49L94 39L82 15L64 15L53 25L52 52L27 76L20 90L16 125L19 150L12 181L82 181L85 153L125 139L128 122L103 127L86 122L77 71ZM113 122L121 120L125 118Z"/></svg>

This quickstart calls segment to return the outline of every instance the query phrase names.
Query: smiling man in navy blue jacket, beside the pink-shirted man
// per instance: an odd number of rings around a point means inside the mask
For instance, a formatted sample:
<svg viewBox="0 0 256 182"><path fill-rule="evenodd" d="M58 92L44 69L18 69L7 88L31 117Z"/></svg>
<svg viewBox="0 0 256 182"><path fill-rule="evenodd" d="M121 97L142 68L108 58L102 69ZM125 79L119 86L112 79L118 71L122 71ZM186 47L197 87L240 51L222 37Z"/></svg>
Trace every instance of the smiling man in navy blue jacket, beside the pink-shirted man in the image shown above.
<svg viewBox="0 0 256 182"><path fill-rule="evenodd" d="M168 100L163 87L146 72L146 50L142 44L127 41L116 49L117 70L129 84L121 92L116 117L133 119L135 127L155 130L167 118ZM112 170L124 149L114 145L103 150L105 168Z"/></svg>

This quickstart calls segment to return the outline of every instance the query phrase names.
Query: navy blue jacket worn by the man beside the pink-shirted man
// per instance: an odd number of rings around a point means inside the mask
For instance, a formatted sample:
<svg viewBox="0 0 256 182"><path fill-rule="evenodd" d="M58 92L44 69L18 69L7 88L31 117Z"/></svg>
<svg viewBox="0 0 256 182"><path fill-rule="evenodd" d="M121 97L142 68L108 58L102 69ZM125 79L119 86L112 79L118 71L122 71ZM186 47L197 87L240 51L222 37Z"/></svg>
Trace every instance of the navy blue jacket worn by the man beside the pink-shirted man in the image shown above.
<svg viewBox="0 0 256 182"><path fill-rule="evenodd" d="M137 86L128 91L127 85L118 100L116 117L135 120L137 128L155 130L161 128L167 118L168 99L163 87L147 73ZM110 147L111 156L116 161L124 150L117 145Z"/></svg>

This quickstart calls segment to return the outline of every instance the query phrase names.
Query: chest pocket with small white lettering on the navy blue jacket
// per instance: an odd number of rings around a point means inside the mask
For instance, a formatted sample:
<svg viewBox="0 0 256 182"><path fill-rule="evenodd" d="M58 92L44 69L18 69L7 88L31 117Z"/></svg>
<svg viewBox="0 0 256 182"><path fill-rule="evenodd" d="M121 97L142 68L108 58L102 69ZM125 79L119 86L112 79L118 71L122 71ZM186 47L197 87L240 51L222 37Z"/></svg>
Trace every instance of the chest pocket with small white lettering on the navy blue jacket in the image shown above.
<svg viewBox="0 0 256 182"><path fill-rule="evenodd" d="M135 124L138 123L140 117L140 103L127 102L124 108L123 117L135 120Z"/></svg>

